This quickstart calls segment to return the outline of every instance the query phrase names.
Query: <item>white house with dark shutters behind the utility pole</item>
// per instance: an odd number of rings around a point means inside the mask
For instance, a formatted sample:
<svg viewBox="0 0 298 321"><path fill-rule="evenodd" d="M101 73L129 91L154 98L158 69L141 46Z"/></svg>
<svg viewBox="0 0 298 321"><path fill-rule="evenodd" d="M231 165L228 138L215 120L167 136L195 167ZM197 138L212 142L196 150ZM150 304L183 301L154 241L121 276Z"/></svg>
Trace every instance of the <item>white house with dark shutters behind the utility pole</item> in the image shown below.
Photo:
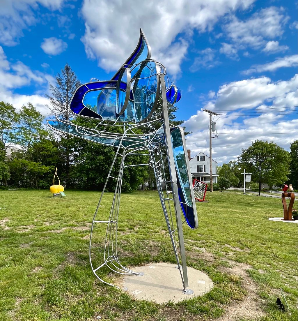
<svg viewBox="0 0 298 321"><path fill-rule="evenodd" d="M188 159L189 165L191 168L192 177L196 178L202 182L209 183L210 182L210 157L200 152L195 157L191 158L191 151L188 149ZM213 183L217 183L217 173L216 173L217 162L212 160L212 181Z"/></svg>

